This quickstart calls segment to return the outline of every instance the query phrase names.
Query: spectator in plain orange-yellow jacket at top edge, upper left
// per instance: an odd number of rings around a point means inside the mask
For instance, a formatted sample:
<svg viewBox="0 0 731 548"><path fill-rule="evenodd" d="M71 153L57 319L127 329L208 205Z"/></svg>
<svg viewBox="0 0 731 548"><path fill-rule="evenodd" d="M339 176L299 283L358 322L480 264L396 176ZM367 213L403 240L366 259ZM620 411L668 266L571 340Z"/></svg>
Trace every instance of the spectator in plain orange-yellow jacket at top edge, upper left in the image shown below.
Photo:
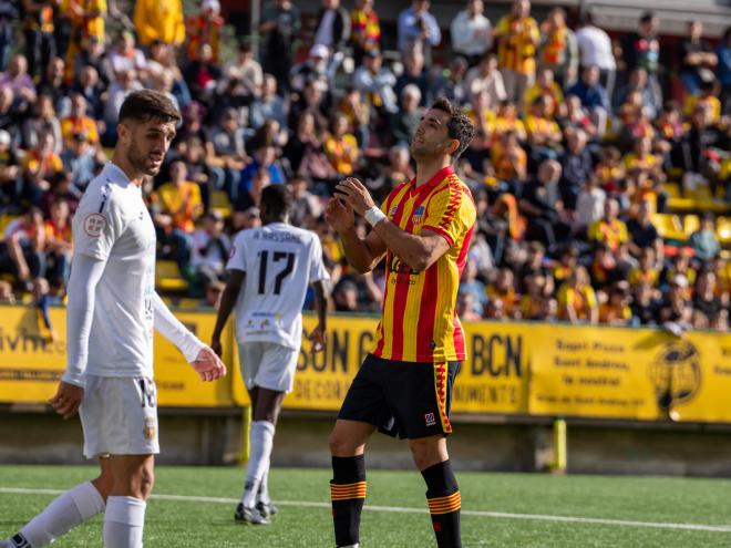
<svg viewBox="0 0 731 548"><path fill-rule="evenodd" d="M182 0L136 0L134 28L140 43L150 46L155 40L179 46L185 42Z"/></svg>

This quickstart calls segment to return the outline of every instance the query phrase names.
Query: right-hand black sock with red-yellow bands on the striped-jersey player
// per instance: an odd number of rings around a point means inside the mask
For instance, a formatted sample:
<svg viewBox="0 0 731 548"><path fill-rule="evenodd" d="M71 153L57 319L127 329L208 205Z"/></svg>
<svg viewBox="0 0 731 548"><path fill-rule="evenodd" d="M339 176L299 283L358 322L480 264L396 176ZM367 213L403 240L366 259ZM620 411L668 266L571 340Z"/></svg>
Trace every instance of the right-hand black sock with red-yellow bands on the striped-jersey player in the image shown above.
<svg viewBox="0 0 731 548"><path fill-rule="evenodd" d="M436 546L461 548L460 508L462 508L462 497L450 461L434 464L421 471L421 475L426 482L426 503L434 535L436 535Z"/></svg>

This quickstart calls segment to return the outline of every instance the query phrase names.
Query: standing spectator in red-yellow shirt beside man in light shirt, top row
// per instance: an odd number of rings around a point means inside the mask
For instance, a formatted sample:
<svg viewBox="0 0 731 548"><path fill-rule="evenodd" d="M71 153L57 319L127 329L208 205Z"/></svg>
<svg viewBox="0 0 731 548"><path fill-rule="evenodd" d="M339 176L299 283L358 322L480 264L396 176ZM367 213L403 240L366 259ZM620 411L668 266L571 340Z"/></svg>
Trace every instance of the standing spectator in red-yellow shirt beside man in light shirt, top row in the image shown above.
<svg viewBox="0 0 731 548"><path fill-rule="evenodd" d="M531 17L529 0L513 0L509 15L495 28L497 68L503 74L508 101L523 107L525 91L536 73L536 49L540 42L538 23Z"/></svg>

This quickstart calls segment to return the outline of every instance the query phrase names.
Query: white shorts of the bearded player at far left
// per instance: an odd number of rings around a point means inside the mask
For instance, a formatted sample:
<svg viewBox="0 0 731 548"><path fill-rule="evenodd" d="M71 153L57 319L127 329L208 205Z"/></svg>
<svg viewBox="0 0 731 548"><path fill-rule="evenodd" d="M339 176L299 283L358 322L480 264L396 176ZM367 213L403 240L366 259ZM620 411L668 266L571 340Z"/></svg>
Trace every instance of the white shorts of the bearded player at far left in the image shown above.
<svg viewBox="0 0 731 548"><path fill-rule="evenodd" d="M86 375L79 416L86 458L159 453L157 394L152 379Z"/></svg>

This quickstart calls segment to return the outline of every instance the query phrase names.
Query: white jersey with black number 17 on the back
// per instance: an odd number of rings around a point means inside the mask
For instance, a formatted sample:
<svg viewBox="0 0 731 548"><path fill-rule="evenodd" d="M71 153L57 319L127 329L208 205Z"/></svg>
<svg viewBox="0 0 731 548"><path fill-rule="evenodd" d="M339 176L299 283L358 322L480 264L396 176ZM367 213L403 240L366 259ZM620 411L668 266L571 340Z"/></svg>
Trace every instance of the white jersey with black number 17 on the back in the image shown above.
<svg viewBox="0 0 731 548"><path fill-rule="evenodd" d="M284 223L241 230L227 268L246 272L236 301L238 340L299 350L307 286L329 279L317 235Z"/></svg>

